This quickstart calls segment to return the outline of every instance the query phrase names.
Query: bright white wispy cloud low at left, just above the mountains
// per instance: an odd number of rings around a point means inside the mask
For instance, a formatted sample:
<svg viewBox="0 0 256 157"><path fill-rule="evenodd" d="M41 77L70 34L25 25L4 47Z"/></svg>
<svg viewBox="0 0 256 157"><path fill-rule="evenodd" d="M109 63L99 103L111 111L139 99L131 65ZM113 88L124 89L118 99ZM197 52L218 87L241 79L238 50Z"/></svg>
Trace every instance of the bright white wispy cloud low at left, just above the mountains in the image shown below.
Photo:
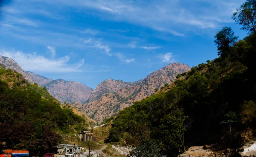
<svg viewBox="0 0 256 157"><path fill-rule="evenodd" d="M82 70L79 68L84 64L84 59L75 64L68 64L70 56L47 59L44 56L38 55L36 52L23 53L22 51L15 50L0 50L0 55L15 60L24 70L38 73L81 72Z"/></svg>

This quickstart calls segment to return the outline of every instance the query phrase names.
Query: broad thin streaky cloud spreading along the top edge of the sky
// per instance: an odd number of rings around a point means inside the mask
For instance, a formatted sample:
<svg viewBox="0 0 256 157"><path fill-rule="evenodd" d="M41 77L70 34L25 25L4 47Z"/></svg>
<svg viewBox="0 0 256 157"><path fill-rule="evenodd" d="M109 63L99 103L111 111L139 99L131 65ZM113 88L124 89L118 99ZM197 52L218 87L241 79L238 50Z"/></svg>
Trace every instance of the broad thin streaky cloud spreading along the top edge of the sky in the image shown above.
<svg viewBox="0 0 256 157"><path fill-rule="evenodd" d="M42 1L42 0L41 0ZM80 11L92 8L97 16L111 21L125 21L143 25L174 36L185 36L189 30L215 29L230 22L235 8L244 0L47 0L77 7ZM93 13L94 14L94 13ZM206 18L210 17L210 18Z"/></svg>

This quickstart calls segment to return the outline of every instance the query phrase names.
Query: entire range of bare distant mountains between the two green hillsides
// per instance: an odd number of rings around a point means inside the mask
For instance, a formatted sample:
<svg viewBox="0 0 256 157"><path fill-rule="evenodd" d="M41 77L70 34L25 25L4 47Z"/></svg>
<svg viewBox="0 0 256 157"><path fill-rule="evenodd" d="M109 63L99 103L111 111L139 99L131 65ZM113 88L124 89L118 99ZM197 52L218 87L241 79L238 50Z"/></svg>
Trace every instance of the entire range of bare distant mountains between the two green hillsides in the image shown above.
<svg viewBox="0 0 256 157"><path fill-rule="evenodd" d="M63 79L52 80L44 76L23 70L13 59L0 56L0 63L23 75L32 84L46 87L47 91L58 101L73 104L93 120L102 122L104 118L131 106L154 94L158 89L170 84L177 74L190 70L182 63L171 63L135 82L107 79L102 81L95 90L77 81Z"/></svg>

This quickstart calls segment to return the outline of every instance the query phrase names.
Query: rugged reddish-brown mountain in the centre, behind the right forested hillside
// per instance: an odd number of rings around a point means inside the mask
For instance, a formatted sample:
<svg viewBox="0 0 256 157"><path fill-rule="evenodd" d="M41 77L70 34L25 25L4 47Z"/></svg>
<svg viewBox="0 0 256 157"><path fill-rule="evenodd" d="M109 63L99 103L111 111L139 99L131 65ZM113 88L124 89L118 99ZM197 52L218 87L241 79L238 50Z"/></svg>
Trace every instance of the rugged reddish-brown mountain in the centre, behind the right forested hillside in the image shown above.
<svg viewBox="0 0 256 157"><path fill-rule="evenodd" d="M143 80L124 82L107 79L101 82L89 98L89 103L81 106L90 118L101 122L120 109L130 106L155 93L155 89L171 83L177 74L189 71L190 67L181 63L171 63L157 70Z"/></svg>

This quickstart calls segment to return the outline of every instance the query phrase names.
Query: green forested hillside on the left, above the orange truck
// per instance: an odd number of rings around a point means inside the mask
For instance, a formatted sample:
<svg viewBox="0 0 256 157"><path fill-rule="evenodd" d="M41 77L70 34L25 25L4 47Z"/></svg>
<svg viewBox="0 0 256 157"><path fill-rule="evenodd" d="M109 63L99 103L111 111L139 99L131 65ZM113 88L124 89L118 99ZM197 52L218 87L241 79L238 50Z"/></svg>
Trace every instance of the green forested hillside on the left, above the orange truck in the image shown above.
<svg viewBox="0 0 256 157"><path fill-rule="evenodd" d="M30 84L20 73L0 67L0 149L28 149L42 156L61 135L73 135L87 125L72 109L61 107L46 88Z"/></svg>

